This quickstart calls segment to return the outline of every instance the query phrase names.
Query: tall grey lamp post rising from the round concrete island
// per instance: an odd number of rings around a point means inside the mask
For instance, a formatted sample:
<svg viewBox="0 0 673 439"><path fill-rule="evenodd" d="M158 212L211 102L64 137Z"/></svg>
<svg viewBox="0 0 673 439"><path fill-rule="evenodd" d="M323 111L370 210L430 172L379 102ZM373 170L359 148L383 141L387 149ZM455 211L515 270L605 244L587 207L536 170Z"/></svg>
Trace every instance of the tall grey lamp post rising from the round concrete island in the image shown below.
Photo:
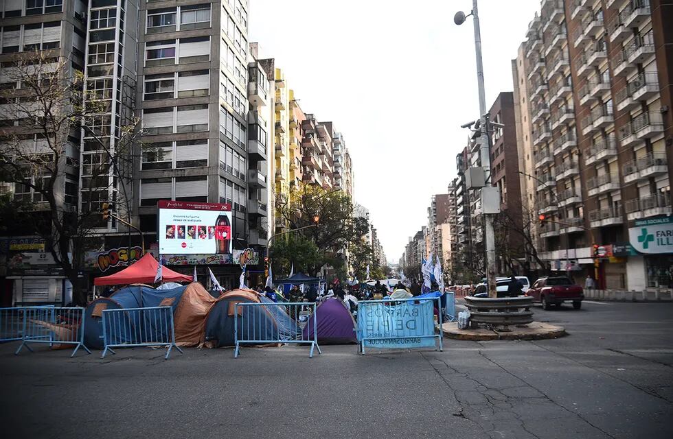
<svg viewBox="0 0 673 439"><path fill-rule="evenodd" d="M479 29L479 14L477 12L477 0L472 0L472 23L475 26L475 53L477 55L477 86L479 88L479 151L481 155L481 167L485 173L485 187L491 187L491 158L488 141L488 115L486 114L486 93L483 87L483 64L481 62L481 30ZM465 22L464 12L457 12L453 21L457 25ZM483 206L482 206L483 208ZM495 281L495 233L493 230L494 217L492 214L484 214L484 244L486 246L486 277L488 280L488 296L497 297Z"/></svg>

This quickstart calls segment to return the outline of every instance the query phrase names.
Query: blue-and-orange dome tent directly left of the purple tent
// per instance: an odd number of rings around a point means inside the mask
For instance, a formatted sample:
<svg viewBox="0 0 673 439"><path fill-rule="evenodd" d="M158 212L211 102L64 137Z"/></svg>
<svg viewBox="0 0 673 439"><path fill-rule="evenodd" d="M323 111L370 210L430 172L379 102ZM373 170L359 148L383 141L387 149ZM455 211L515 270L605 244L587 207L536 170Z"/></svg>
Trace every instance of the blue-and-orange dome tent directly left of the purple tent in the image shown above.
<svg viewBox="0 0 673 439"><path fill-rule="evenodd" d="M237 303L269 303L270 306L236 308ZM242 340L292 340L301 330L284 307L275 305L250 289L232 289L220 296L205 319L205 346L233 346L234 313L240 312L238 333ZM245 324L244 324L245 323ZM261 344L261 343L260 343Z"/></svg>

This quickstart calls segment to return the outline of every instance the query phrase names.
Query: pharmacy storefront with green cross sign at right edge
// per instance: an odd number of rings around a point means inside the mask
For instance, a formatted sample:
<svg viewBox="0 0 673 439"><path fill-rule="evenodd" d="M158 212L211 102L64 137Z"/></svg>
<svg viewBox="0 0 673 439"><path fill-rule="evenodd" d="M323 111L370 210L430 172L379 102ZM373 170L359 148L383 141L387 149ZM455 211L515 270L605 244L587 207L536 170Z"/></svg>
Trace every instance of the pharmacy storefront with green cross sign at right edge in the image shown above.
<svg viewBox="0 0 673 439"><path fill-rule="evenodd" d="M629 282L629 289L673 288L673 219L636 221L635 227L628 229L628 238L639 254L629 257L632 267L628 271L641 274L639 285Z"/></svg>

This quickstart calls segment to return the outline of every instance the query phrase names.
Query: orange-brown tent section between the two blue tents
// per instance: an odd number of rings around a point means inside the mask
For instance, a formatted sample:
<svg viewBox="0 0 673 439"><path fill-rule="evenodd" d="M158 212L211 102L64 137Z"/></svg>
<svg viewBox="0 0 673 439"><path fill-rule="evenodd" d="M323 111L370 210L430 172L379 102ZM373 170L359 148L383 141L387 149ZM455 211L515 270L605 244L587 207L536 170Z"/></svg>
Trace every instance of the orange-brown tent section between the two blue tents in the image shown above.
<svg viewBox="0 0 673 439"><path fill-rule="evenodd" d="M205 317L217 299L198 282L185 287L182 299L175 310L175 344L198 346L203 340Z"/></svg>

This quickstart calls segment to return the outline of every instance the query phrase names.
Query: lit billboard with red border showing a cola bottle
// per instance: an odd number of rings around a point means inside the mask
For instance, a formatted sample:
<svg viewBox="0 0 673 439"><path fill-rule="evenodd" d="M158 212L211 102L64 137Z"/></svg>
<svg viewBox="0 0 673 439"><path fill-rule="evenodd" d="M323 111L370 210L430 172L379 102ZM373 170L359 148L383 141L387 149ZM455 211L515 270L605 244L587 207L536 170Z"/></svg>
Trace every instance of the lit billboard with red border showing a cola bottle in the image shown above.
<svg viewBox="0 0 673 439"><path fill-rule="evenodd" d="M231 204L159 201L160 254L231 254Z"/></svg>

